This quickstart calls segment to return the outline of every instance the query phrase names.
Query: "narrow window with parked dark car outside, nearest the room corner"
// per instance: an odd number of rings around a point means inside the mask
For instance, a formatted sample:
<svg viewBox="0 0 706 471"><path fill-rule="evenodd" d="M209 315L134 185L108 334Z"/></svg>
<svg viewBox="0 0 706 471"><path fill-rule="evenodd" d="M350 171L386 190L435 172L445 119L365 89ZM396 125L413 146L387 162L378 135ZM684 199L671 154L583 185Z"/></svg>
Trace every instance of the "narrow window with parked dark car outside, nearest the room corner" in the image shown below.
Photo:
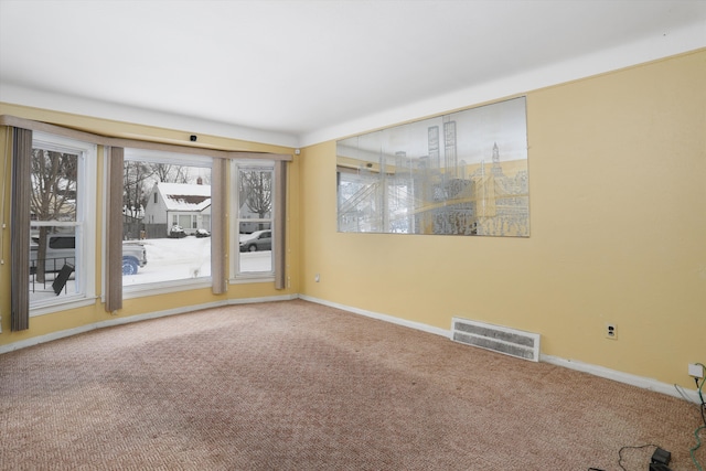
<svg viewBox="0 0 706 471"><path fill-rule="evenodd" d="M231 233L232 270L236 279L275 276L272 258L275 227L274 162L234 161L235 182Z"/></svg>

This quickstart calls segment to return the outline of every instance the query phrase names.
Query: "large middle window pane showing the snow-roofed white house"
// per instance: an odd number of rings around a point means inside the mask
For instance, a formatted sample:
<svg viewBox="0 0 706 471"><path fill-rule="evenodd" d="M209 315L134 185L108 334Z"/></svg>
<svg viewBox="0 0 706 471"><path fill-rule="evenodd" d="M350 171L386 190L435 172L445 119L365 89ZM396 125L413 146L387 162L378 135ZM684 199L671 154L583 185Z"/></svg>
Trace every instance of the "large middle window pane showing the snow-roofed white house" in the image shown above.
<svg viewBox="0 0 706 471"><path fill-rule="evenodd" d="M124 292L210 286L212 158L126 149L124 167Z"/></svg>

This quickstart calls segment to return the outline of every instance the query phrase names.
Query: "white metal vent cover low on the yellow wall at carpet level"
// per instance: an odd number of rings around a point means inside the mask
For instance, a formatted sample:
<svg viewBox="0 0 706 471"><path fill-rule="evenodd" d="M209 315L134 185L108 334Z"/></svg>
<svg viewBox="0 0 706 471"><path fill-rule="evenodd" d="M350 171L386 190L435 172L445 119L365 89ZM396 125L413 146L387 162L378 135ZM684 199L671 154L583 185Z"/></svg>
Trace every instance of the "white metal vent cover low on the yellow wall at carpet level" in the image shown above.
<svg viewBox="0 0 706 471"><path fill-rule="evenodd" d="M539 334L453 318L451 340L517 358L539 361Z"/></svg>

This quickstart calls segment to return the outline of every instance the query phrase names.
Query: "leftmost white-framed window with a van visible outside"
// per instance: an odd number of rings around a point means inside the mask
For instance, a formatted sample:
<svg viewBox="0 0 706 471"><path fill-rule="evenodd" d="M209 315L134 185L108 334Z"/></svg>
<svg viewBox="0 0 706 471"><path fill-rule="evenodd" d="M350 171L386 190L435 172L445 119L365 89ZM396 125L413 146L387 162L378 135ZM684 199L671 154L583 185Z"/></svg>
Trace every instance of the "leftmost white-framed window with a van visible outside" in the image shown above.
<svg viewBox="0 0 706 471"><path fill-rule="evenodd" d="M34 132L30 170L30 312L95 296L95 144Z"/></svg>

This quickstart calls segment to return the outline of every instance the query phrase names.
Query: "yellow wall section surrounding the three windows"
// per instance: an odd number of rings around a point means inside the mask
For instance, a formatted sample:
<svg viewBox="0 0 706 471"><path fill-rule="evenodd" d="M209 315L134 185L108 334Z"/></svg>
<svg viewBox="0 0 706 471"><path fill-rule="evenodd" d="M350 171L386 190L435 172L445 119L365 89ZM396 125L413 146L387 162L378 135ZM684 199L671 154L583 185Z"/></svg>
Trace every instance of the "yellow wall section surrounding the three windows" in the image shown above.
<svg viewBox="0 0 706 471"><path fill-rule="evenodd" d="M26 119L33 119L38 121L50 122L54 125L77 128L98 135L133 138L151 140L157 142L179 143L191 146L189 142L189 132L162 129L156 127L140 126L126 122L117 122L105 119L88 118L84 116L76 116L71 114L42 110L36 108L21 107L15 105L0 104L0 115L11 115ZM269 298L269 297L286 297L296 296L299 290L299 279L297 277L298 270L292 267L299 266L299 254L296 249L299 244L299 227L298 227L298 212L299 212L299 163L295 156L295 161L289 164L288 182L289 182L289 197L288 197L288 231L287 231L287 266L288 266L288 280L289 287L284 290L276 290L274 282L260 282L260 283L237 283L229 285L228 291L225 295L215 296L211 292L210 288L196 289L196 290L183 290L180 292L173 292L169 295L141 297L136 299L127 299L124 301L124 309L118 311L117 315L110 315L105 311L104 304L100 299L97 299L94 306L84 307L79 309L72 309L66 311L60 311L51 314L38 315L30 318L30 329L21 332L10 332L10 279L12 270L10 267L10 182L11 182L11 167L9 159L8 148L9 139L7 128L0 128L0 165L3 169L0 189L0 202L4 203L4 211L0 213L3 215L3 223L7 225L2 229L1 234L1 249L3 264L0 265L0 315L2 317L1 327L2 333L0 333L0 345L11 344L19 341L26 341L40 335L47 335L60 331L84 328L89 324L98 322L105 322L115 320L116 318L128 318L130 315L149 314L160 311L173 311L188 308L190 306L199 307L210 304L214 302L228 302L235 300L253 299L253 298ZM238 150L238 151L257 151L257 152L272 152L272 153L293 153L293 149L261 144L257 142L238 141L234 139L225 139L215 136L199 136L199 146L215 148L222 150ZM194 147L199 147L194 146ZM98 171L103 171L103 167L98 167ZM103 178L98 179L98 201L103 197ZM101 211L101 204L98 204L98 212ZM96 253L101 254L101 237L100 227L101 214L98 214L96 220L98 235ZM100 296L100 260L96 266L96 289L98 296Z"/></svg>

